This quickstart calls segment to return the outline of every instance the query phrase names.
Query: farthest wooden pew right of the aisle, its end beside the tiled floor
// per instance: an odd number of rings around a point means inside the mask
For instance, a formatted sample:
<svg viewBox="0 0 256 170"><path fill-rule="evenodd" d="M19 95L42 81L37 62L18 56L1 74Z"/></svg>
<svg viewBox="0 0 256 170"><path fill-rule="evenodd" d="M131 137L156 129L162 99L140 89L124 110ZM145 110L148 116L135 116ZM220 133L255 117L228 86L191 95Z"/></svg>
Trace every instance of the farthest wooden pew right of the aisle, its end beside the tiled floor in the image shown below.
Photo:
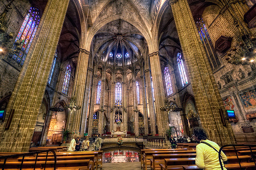
<svg viewBox="0 0 256 170"><path fill-rule="evenodd" d="M179 150L171 150L171 151L147 151L143 156L143 169L147 170L147 166L150 166L150 159L153 158L153 154L190 154L196 153L196 151L186 150L186 151L179 151Z"/></svg>

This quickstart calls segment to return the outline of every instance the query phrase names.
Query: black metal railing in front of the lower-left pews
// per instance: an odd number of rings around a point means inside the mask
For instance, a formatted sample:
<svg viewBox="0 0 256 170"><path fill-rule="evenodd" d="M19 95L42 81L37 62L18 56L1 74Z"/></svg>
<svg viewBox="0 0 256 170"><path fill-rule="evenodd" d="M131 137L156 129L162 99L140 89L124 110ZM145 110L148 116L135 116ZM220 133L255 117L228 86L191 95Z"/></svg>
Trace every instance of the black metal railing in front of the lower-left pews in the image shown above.
<svg viewBox="0 0 256 170"><path fill-rule="evenodd" d="M47 163L47 157L48 157L48 153L52 152L53 156L54 156L54 170L56 169L56 163L57 163L57 157L56 157L56 153L53 150L45 150L45 151L36 151L36 152L29 152L29 153L23 153L23 154L15 154L15 155L6 155L6 156L0 156L0 159L4 159L4 164L2 165L2 170L5 169L5 165L6 165L6 161L8 158L17 158L17 157L21 157L22 156L22 163L20 164L20 170L22 170L22 166L23 166L23 162L24 162L24 158L25 156L29 156L29 155L34 155L36 154L36 158L35 158L35 164L34 164L34 170L36 168L36 162L37 162L37 157L39 153L43 153L43 152L47 152L46 154L46 160L45 160L45 168L46 169L46 163Z"/></svg>

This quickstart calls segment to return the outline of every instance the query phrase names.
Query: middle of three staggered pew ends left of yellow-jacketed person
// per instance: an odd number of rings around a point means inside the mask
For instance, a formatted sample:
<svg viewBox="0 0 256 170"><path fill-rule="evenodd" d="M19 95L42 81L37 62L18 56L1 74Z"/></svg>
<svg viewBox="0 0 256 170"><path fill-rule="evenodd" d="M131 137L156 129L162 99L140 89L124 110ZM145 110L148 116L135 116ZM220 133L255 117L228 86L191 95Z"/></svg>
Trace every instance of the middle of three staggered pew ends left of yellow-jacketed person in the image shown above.
<svg viewBox="0 0 256 170"><path fill-rule="evenodd" d="M167 158L190 158L190 157L196 157L196 153L192 154L153 154L153 159L150 159L151 161L151 169L160 169L159 164L164 164L164 159Z"/></svg>

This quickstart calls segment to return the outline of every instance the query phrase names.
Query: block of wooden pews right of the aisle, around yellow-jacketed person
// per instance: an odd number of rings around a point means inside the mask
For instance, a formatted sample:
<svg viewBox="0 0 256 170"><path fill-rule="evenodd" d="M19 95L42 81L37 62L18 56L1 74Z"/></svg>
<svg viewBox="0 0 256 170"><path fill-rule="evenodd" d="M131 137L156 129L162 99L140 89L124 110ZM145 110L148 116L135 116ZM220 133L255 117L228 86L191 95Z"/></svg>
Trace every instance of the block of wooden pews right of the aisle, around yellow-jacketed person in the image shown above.
<svg viewBox="0 0 256 170"><path fill-rule="evenodd" d="M232 147L223 149L228 159L224 162L227 169L240 169L240 165L242 168L256 169L255 163L250 162L252 159L248 147L236 147L237 154L233 150ZM252 147L251 150L253 154L256 153L256 148ZM142 150L141 168L146 170L199 169L195 164L195 158L195 149Z"/></svg>

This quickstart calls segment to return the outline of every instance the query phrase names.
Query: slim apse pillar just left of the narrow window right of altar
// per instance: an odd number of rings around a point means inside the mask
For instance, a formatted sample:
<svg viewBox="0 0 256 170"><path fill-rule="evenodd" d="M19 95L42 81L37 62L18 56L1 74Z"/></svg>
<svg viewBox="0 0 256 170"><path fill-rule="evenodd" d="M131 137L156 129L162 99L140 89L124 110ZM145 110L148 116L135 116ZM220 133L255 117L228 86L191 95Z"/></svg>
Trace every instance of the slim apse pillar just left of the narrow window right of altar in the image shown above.
<svg viewBox="0 0 256 170"><path fill-rule="evenodd" d="M134 108L134 133L135 136L139 136L139 111L137 102L137 90L135 81L135 72L133 72L133 108ZM137 109L137 111L135 111Z"/></svg>

